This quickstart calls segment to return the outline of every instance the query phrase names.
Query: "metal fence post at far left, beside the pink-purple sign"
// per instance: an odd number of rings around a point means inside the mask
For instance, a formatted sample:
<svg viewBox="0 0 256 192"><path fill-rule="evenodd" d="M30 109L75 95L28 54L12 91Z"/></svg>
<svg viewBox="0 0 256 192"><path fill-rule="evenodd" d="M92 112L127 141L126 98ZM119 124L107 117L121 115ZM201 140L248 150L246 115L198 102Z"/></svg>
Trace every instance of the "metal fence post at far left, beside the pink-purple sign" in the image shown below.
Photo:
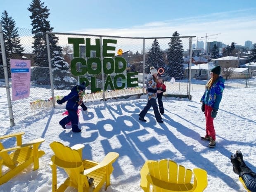
<svg viewBox="0 0 256 192"><path fill-rule="evenodd" d="M12 126L14 126L14 118L13 118L12 101L11 101L11 94L10 94L10 85L9 85L6 55L5 55L5 41L4 41L4 36L3 36L3 33L2 33L2 24L1 23L0 23L0 43L1 43L1 50L2 50L2 64L3 64L4 74L5 74L5 85L6 85L5 88L6 88L10 123L11 123L11 127L12 127Z"/></svg>

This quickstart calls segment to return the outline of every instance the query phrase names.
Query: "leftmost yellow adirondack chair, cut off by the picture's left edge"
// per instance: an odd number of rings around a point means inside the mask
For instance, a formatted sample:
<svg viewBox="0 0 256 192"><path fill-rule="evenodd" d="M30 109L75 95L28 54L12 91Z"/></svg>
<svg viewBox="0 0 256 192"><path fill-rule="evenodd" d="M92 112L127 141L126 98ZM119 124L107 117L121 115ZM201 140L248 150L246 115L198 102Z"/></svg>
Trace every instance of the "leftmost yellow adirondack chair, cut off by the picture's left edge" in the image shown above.
<svg viewBox="0 0 256 192"><path fill-rule="evenodd" d="M30 164L34 164L34 170L39 168L39 158L45 152L38 150L39 145L45 140L42 138L22 144L21 136L24 132L0 136L0 185L17 175ZM5 148L1 140L16 137L17 146ZM5 171L3 167L7 167Z"/></svg>

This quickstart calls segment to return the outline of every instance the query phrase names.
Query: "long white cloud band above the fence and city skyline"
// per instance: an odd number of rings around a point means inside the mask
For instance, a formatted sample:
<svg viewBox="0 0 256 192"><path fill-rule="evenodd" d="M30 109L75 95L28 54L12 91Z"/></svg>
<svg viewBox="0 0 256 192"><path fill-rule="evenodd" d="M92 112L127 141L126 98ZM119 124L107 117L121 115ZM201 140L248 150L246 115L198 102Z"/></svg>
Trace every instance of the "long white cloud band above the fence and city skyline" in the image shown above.
<svg viewBox="0 0 256 192"><path fill-rule="evenodd" d="M218 41L231 44L233 41L244 45L246 40L256 43L256 16L248 15L247 10L219 12L198 17L177 18L155 21L129 28L86 28L71 33L98 34L123 37L170 37L175 31L180 36L201 36L221 33Z"/></svg>

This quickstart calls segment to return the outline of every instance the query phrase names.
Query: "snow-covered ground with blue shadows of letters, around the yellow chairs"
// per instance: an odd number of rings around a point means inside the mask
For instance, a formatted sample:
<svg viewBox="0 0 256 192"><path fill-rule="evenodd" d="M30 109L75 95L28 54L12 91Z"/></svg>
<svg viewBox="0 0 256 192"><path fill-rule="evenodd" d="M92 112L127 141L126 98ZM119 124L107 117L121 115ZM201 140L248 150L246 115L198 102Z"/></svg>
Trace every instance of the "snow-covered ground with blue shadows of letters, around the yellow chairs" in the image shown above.
<svg viewBox="0 0 256 192"><path fill-rule="evenodd" d="M59 126L65 105L57 105L51 110L42 109L37 115L10 128L6 90L0 88L0 135L24 131L23 142L45 138L40 149L46 153L40 158L38 170L33 171L33 166L29 166L9 182L0 185L0 192L50 192L52 172L49 161L53 152L49 144L53 141L67 146L84 144L83 158L94 161L101 161L108 152L118 152L120 156L114 163L108 192L142 192L140 169L147 159L171 159L186 168L205 169L208 173L205 192L245 191L232 171L230 155L240 149L244 160L256 171L255 92L256 88L224 90L214 120L217 145L211 149L206 147L208 142L200 140L200 136L205 135L204 113L199 103L203 90L193 90L192 101L164 98L162 124L156 122L152 109L145 117L147 122L138 120L138 114L147 103L145 95L88 102L89 113L79 117L82 133L72 134L71 129L64 130ZM4 140L3 144L10 147L14 142L9 139ZM66 173L59 170L57 174L59 185L66 178ZM76 192L73 188L66 190L69 191Z"/></svg>

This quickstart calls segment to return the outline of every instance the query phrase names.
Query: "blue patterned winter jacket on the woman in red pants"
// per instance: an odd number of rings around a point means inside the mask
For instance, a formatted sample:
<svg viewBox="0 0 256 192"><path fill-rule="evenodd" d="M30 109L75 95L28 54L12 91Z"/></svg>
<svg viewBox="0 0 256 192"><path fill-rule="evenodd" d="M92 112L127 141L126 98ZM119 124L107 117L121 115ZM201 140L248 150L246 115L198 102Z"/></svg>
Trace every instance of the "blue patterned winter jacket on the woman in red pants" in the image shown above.
<svg viewBox="0 0 256 192"><path fill-rule="evenodd" d="M225 80L223 79L223 77L219 76L216 82L213 83L211 89L206 89L204 91L204 95L202 96L200 102L211 106L213 109L218 110L220 101L222 99L222 93L225 89L224 82Z"/></svg>

